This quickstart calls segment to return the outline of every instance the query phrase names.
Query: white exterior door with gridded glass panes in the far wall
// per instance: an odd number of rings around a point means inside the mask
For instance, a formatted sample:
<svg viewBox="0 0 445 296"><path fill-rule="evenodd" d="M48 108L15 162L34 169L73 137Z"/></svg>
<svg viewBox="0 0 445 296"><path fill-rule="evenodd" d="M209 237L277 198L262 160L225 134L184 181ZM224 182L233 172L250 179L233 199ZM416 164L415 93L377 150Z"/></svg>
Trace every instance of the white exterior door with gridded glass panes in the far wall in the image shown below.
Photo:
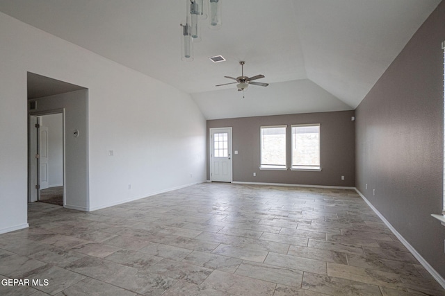
<svg viewBox="0 0 445 296"><path fill-rule="evenodd" d="M232 182L232 128L210 129L210 180Z"/></svg>

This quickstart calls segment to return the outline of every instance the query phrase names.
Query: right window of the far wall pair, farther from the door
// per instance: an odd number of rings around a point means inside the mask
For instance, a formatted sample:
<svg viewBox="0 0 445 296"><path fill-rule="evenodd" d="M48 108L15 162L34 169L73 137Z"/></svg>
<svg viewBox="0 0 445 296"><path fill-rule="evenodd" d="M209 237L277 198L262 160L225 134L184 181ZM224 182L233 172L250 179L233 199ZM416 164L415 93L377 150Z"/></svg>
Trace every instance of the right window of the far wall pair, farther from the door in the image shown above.
<svg viewBox="0 0 445 296"><path fill-rule="evenodd" d="M321 171L320 124L292 125L291 169Z"/></svg>

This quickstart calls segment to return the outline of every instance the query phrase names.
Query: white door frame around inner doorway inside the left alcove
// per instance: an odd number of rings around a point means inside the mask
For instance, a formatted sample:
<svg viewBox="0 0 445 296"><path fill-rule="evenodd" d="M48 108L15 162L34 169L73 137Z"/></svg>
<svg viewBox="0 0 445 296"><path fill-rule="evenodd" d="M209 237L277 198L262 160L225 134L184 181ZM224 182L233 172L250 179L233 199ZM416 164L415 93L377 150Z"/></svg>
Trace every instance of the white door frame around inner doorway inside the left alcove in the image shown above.
<svg viewBox="0 0 445 296"><path fill-rule="evenodd" d="M65 186L65 168L66 168L66 164L65 164L65 108L59 108L59 109L54 109L54 110L44 110L44 111L36 111L36 112L29 112L28 114L28 121L29 121L29 125L28 128L31 128L31 116L33 117L37 117L37 116L45 116L45 115L51 115L51 114L62 114L62 182L63 182L63 207L65 207L66 204L66 186ZM33 169L33 167L31 166L31 162L35 159L33 157L33 155L31 155L32 151L35 150L33 148L31 148L31 144L33 143L33 141L31 141L31 130L28 130L28 202L34 202L36 200L31 200L32 197L32 193L31 191L33 190L37 190L37 200L40 200L40 189L35 189L34 185L31 184L31 182L33 180L37 180L37 182L40 182L39 180L39 172L38 170L40 169L39 167L39 163L37 165L37 170ZM39 145L38 141L37 141L37 145Z"/></svg>

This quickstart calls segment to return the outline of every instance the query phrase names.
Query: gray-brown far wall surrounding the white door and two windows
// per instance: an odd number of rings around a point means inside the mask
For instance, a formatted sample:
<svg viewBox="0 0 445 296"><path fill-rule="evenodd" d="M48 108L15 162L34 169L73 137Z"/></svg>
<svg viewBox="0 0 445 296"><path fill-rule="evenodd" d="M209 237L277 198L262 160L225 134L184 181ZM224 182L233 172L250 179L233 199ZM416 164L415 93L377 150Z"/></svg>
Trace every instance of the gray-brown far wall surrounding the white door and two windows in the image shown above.
<svg viewBox="0 0 445 296"><path fill-rule="evenodd" d="M233 181L324 186L355 186L354 111L256 116L207 121L210 128L232 127ZM291 125L320 123L321 172L259 170L261 125L288 125L287 163L291 164ZM207 139L207 180L209 175L209 138ZM257 173L254 177L253 173ZM341 180L341 176L345 180Z"/></svg>

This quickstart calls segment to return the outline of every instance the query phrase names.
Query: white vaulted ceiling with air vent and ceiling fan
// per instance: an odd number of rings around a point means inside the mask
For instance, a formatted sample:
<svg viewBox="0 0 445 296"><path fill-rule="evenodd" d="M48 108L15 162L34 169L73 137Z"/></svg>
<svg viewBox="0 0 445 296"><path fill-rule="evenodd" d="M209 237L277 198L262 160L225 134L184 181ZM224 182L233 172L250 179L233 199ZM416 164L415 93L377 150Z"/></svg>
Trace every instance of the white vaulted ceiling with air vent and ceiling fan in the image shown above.
<svg viewBox="0 0 445 296"><path fill-rule="evenodd" d="M183 62L186 0L0 0L0 11L192 94L207 119L353 110L440 0L220 0ZM213 55L227 61L214 64ZM264 74L237 92L223 76Z"/></svg>

